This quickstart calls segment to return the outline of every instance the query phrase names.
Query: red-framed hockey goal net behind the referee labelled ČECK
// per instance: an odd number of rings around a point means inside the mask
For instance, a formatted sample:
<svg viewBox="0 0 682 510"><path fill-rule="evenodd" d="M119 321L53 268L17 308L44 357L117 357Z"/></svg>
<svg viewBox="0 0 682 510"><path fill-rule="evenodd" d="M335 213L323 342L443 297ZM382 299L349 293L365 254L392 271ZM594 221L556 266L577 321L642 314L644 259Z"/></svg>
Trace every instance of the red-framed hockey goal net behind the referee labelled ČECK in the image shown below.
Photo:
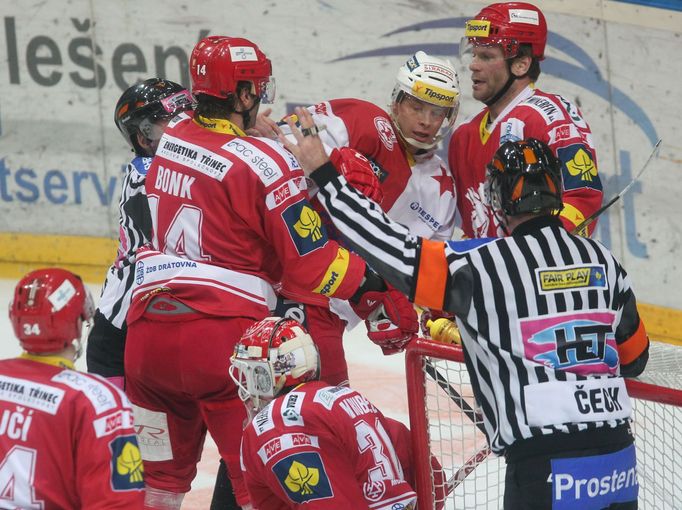
<svg viewBox="0 0 682 510"><path fill-rule="evenodd" d="M416 339L405 360L419 510L501 509L505 463L487 447L461 347ZM640 510L682 504L680 367L681 347L652 342L644 374L626 381ZM442 473L433 472L430 454Z"/></svg>

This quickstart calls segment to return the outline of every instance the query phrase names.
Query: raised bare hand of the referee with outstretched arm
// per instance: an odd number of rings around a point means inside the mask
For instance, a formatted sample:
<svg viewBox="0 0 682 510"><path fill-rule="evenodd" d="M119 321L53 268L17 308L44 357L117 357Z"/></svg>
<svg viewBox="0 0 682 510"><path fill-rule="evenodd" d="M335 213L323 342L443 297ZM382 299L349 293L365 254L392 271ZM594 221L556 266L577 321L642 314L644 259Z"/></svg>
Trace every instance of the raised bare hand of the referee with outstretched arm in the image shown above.
<svg viewBox="0 0 682 510"><path fill-rule="evenodd" d="M275 126L275 129L282 145L296 157L305 174L310 175L329 161L329 156L327 156L324 150L322 140L317 136L317 132L324 129L324 127L315 125L313 116L306 108L297 106L295 112L301 125L300 129L296 126L296 119L293 115L289 115L284 120L291 130L291 134L296 139L296 143L289 141L279 126Z"/></svg>

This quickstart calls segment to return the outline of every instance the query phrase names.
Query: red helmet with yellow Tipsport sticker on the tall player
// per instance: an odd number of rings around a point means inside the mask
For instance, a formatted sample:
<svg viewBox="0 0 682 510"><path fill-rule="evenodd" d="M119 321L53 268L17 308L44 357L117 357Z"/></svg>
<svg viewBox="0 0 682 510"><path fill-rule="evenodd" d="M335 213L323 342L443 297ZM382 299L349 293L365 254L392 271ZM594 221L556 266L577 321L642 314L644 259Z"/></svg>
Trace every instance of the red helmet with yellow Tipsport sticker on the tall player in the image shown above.
<svg viewBox="0 0 682 510"><path fill-rule="evenodd" d="M533 4L491 4L466 22L464 37L474 46L502 46L505 58L515 57L520 44L530 44L533 57L542 60L547 43L547 22L542 11Z"/></svg>

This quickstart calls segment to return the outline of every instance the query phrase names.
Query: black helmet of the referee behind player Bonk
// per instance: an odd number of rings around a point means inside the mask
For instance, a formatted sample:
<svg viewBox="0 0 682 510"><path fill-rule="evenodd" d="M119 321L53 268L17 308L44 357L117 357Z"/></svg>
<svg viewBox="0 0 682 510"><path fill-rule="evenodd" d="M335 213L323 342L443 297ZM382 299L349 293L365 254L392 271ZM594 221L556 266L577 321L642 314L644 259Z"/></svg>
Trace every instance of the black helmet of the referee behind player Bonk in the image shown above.
<svg viewBox="0 0 682 510"><path fill-rule="evenodd" d="M116 103L114 122L126 142L139 156L153 156L137 142L137 133L154 139L152 126L157 120L171 119L194 105L192 95L170 80L150 78L129 87Z"/></svg>

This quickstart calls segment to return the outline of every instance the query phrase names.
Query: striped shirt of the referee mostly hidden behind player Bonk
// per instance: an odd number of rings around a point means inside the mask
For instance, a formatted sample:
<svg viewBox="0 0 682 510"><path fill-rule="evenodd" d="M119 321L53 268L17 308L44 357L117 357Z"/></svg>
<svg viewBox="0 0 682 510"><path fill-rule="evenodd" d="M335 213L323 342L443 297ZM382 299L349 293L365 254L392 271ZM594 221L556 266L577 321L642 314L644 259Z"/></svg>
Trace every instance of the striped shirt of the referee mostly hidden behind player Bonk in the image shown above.
<svg viewBox="0 0 682 510"><path fill-rule="evenodd" d="M126 168L119 202L119 244L116 260L107 271L99 311L122 329L135 280L135 252L151 239L152 221L144 182L152 158L136 157Z"/></svg>

